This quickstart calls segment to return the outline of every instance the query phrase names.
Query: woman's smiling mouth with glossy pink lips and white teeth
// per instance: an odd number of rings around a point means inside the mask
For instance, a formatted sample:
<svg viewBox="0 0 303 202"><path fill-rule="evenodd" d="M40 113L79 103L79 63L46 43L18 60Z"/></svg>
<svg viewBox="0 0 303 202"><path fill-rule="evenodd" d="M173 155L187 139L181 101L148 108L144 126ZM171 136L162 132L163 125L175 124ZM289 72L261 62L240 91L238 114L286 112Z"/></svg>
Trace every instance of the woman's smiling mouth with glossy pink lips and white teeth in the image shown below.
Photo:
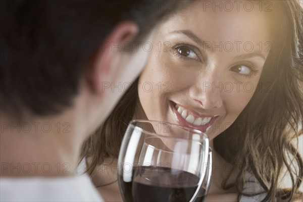
<svg viewBox="0 0 303 202"><path fill-rule="evenodd" d="M180 125L191 127L202 132L214 123L218 116L201 115L193 110L189 110L184 106L177 105L170 102L170 107L173 111L174 117Z"/></svg>

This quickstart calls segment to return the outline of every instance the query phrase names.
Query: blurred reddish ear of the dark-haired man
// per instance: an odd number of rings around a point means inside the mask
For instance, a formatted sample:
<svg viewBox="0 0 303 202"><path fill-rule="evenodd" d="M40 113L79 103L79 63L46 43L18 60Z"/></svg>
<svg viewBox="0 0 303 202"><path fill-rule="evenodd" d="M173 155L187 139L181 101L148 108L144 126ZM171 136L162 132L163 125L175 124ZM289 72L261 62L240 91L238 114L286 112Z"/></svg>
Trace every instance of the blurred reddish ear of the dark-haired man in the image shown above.
<svg viewBox="0 0 303 202"><path fill-rule="evenodd" d="M114 60L120 57L123 52L122 44L134 38L139 31L134 22L124 21L119 23L108 37L100 44L100 48L90 66L89 83L92 91L98 94L104 93L108 85L112 85L114 78ZM117 46L120 46L119 48ZM115 48L114 48L115 47Z"/></svg>

